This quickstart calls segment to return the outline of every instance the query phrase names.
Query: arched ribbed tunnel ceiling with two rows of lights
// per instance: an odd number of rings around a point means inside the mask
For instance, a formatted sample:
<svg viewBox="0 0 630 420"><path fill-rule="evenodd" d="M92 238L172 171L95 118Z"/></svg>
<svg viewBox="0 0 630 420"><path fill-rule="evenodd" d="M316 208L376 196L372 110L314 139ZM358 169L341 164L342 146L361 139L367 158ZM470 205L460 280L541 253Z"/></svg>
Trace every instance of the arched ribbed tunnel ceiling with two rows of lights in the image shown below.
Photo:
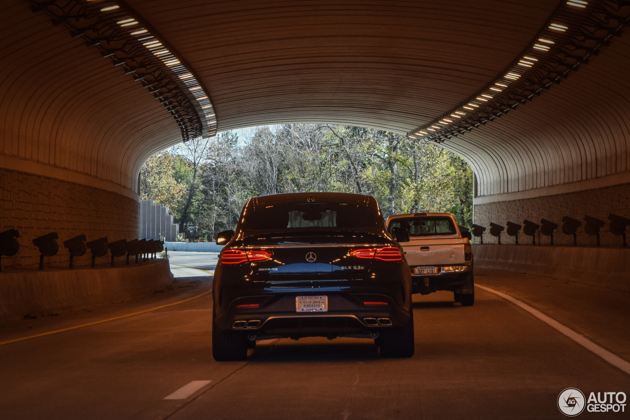
<svg viewBox="0 0 630 420"><path fill-rule="evenodd" d="M0 158L13 166L37 162L135 189L146 158L182 138L329 122L437 141L471 163L479 195L629 169L630 49L616 30L630 12L616 1L6 0L0 8ZM593 35L576 40L576 28ZM547 50L532 50L541 37L577 45L573 67L552 63L550 73ZM530 52L534 68L518 67ZM518 83L529 87L440 125L471 100L484 105L475 98L494 96L489 89L511 69L528 71Z"/></svg>

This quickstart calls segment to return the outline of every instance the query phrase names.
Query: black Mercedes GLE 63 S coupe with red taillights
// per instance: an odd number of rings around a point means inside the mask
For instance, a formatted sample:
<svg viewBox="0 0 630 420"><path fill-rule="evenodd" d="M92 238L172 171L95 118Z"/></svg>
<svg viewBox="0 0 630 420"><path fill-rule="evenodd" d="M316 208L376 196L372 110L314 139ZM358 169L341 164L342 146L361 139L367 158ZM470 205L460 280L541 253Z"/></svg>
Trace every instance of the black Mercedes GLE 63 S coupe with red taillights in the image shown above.
<svg viewBox="0 0 630 420"><path fill-rule="evenodd" d="M408 236L392 235L367 195L250 199L236 231L217 235L214 358L243 360L280 337L374 339L383 357L411 357L411 274L395 240Z"/></svg>

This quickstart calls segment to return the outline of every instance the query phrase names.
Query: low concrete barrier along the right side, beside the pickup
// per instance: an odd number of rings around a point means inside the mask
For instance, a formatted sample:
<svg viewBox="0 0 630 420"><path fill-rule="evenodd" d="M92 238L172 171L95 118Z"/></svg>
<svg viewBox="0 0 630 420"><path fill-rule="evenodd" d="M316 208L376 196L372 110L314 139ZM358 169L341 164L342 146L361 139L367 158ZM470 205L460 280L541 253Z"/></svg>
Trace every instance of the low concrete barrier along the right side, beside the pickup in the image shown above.
<svg viewBox="0 0 630 420"><path fill-rule="evenodd" d="M524 272L630 291L630 249L473 245L476 267Z"/></svg>

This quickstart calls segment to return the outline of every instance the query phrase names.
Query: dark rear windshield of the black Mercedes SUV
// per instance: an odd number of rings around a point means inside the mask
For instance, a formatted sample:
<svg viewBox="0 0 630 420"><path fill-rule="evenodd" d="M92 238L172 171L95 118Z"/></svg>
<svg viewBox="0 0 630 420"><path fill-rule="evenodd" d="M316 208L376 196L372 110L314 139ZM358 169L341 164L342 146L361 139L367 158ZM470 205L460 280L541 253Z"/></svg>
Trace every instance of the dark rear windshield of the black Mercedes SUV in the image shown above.
<svg viewBox="0 0 630 420"><path fill-rule="evenodd" d="M281 202L256 206L244 214L244 230L311 230L377 228L378 216L350 203Z"/></svg>

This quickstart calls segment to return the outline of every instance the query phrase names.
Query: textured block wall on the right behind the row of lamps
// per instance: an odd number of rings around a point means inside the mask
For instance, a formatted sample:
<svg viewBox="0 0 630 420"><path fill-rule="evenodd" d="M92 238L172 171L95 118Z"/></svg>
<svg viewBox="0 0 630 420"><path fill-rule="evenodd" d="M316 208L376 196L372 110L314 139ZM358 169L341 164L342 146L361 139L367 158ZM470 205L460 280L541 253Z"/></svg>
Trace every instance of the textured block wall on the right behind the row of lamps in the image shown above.
<svg viewBox="0 0 630 420"><path fill-rule="evenodd" d="M595 236L587 235L584 231L584 216L588 214L588 216L606 222L600 230L601 246L621 247L621 236L612 235L609 231L608 215L610 213L630 218L630 184L513 201L476 204L474 206L474 223L488 228L483 234L484 243L497 243L498 239L489 233L490 222L506 226L507 221L512 221L521 225L524 219L528 219L540 224L541 218L544 218L558 223L558 229L554 233L554 244L573 245L573 235L564 235L561 230L563 216L570 216L582 221L582 226L577 231L578 246L593 247L596 244ZM627 236L630 242L630 228L627 228ZM549 242L549 236L541 235L540 231L537 232L537 244L548 245ZM474 238L474 243L479 243L479 238ZM515 240L513 236L508 236L503 231L501 243L513 244ZM518 243L531 244L532 238L520 231Z"/></svg>

